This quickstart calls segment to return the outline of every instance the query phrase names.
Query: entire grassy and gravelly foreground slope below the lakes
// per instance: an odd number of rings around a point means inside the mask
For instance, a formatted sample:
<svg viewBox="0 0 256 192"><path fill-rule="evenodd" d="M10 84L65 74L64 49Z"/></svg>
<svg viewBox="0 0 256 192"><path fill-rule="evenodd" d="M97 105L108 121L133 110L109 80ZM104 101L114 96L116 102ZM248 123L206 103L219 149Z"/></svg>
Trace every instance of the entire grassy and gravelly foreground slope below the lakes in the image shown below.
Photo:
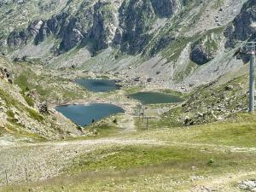
<svg viewBox="0 0 256 192"><path fill-rule="evenodd" d="M123 118L135 130L1 147L0 191L242 191L242 181L255 180L254 114L148 131Z"/></svg>

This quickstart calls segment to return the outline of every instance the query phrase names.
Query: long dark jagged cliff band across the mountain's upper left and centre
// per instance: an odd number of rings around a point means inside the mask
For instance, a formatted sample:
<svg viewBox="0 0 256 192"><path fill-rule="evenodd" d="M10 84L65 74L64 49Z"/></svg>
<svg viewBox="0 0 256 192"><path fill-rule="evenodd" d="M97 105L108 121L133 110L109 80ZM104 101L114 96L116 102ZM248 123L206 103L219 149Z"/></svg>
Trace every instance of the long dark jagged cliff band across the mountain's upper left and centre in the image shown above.
<svg viewBox="0 0 256 192"><path fill-rule="evenodd" d="M172 17L180 6L177 0L84 1L73 13L67 9L49 20L33 20L26 29L11 32L7 44L12 49L31 40L37 45L54 34L61 39L56 49L59 52L89 44L92 52L119 46L135 55L152 38L148 31L154 21Z"/></svg>

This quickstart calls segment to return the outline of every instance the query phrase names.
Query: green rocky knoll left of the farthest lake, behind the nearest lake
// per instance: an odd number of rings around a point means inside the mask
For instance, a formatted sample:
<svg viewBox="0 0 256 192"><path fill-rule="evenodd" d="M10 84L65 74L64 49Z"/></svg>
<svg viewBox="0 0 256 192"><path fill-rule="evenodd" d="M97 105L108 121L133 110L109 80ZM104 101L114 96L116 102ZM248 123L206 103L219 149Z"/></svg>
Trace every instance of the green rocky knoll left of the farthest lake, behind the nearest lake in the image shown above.
<svg viewBox="0 0 256 192"><path fill-rule="evenodd" d="M73 99L84 98L88 91L71 82L70 79L54 76L48 70L39 68L37 65L30 65L26 62L15 62L15 84L22 90L22 96L27 104L34 106L32 98L26 96L26 91L36 90L38 99L48 102L67 102ZM68 70L68 69L67 69ZM38 72L38 73L37 73ZM56 71L58 73L61 71Z"/></svg>

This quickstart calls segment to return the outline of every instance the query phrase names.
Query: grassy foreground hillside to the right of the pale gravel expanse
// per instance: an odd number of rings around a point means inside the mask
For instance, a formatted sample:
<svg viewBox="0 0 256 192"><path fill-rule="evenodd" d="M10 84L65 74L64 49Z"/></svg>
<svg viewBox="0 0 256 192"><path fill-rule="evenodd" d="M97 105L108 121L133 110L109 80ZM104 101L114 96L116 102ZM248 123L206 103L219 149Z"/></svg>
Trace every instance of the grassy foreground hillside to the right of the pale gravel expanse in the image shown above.
<svg viewBox="0 0 256 192"><path fill-rule="evenodd" d="M255 115L222 123L140 131L124 139L150 144L100 145L79 155L63 176L8 191L237 191L255 177Z"/></svg>

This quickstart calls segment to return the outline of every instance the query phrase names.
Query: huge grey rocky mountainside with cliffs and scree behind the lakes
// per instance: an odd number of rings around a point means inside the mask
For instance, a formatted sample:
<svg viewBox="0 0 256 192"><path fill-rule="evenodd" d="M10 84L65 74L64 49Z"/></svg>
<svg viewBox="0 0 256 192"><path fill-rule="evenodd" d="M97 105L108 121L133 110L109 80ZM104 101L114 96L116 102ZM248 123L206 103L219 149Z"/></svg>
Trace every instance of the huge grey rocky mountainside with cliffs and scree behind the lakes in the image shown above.
<svg viewBox="0 0 256 192"><path fill-rule="evenodd" d="M4 55L169 88L241 67L232 48L255 32L253 0L1 1L0 13Z"/></svg>

